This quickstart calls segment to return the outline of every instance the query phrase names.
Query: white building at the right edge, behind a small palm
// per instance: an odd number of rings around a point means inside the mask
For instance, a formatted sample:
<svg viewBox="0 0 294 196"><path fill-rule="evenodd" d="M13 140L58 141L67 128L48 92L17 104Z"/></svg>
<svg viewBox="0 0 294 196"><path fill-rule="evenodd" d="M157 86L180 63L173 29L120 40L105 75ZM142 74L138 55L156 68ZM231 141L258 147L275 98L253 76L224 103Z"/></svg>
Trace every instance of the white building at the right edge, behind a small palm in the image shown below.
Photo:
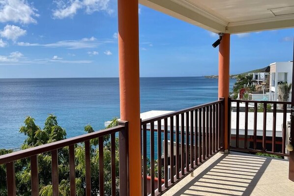
<svg viewBox="0 0 294 196"><path fill-rule="evenodd" d="M270 101L277 101L278 99L278 84L287 82L292 83L292 69L293 62L274 62L270 64ZM291 93L289 100L291 101Z"/></svg>

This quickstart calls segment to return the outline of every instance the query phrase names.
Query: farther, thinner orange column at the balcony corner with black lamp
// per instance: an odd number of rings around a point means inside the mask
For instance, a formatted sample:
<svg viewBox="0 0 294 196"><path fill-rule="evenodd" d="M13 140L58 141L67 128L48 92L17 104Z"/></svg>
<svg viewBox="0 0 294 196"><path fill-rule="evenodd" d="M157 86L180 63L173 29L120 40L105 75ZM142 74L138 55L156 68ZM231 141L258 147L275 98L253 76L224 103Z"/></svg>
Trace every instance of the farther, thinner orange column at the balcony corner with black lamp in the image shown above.
<svg viewBox="0 0 294 196"><path fill-rule="evenodd" d="M230 34L225 33L219 45L218 54L218 97L225 98L224 116L224 150L229 149L228 143L228 98L230 87Z"/></svg>

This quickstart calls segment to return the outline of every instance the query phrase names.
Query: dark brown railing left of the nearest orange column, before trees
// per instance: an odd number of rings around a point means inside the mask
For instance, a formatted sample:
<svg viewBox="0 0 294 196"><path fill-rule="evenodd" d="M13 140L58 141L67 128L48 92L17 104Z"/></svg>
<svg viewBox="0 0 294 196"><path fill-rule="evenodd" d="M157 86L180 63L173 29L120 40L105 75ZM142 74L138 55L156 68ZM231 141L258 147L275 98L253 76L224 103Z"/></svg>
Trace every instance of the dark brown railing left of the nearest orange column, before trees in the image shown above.
<svg viewBox="0 0 294 196"><path fill-rule="evenodd" d="M7 195L16 196L15 182L15 167L14 162L20 159L30 159L31 173L31 195L39 196L39 178L38 178L38 155L46 152L51 152L52 163L52 187L53 195L59 196L59 175L58 175L58 149L69 147L69 179L70 179L70 195L76 195L75 182L75 145L85 143L85 165L86 165L86 188L87 196L91 195L91 168L90 167L90 140L98 138L99 144L99 194L104 196L104 158L103 158L103 137L110 135L111 141L111 184L112 195L116 195L116 148L115 137L118 133L119 140L119 193L121 196L128 195L128 123L119 122L119 126L85 134L82 136L60 140L49 144L32 147L26 150L21 150L6 155L0 156L0 165L6 164L6 180L7 180ZM48 176L49 177L49 176ZM98 185L97 185L98 186Z"/></svg>

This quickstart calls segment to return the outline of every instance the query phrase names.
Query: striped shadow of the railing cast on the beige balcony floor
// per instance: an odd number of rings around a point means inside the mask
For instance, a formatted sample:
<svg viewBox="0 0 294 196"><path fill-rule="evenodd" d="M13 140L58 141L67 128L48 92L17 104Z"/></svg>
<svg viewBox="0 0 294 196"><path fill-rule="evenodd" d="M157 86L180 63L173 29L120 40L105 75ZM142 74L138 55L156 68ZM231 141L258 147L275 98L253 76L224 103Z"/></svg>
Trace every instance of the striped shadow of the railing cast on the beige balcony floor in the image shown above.
<svg viewBox="0 0 294 196"><path fill-rule="evenodd" d="M271 158L223 154L179 189L175 196L250 196ZM260 193L262 195L262 193Z"/></svg>

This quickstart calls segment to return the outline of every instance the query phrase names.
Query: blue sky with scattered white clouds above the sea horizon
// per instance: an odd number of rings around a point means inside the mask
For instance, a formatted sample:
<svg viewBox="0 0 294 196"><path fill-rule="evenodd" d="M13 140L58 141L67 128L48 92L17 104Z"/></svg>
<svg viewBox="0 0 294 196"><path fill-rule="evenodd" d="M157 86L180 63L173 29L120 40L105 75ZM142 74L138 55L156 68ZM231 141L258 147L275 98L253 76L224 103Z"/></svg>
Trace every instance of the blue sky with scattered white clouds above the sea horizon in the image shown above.
<svg viewBox="0 0 294 196"><path fill-rule="evenodd" d="M217 35L139 5L140 75L218 72ZM118 77L117 0L0 0L0 78ZM231 74L293 58L294 28L231 36Z"/></svg>

